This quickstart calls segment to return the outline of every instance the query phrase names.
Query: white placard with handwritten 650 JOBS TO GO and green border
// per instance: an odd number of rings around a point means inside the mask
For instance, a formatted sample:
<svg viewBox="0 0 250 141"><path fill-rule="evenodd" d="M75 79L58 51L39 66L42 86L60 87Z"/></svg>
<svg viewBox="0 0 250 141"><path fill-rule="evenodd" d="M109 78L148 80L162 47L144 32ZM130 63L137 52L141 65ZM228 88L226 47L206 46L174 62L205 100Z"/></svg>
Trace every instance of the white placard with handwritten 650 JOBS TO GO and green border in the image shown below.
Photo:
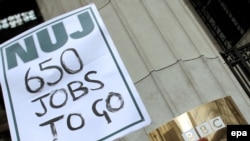
<svg viewBox="0 0 250 141"><path fill-rule="evenodd" d="M114 140L150 123L94 4L0 49L12 140Z"/></svg>

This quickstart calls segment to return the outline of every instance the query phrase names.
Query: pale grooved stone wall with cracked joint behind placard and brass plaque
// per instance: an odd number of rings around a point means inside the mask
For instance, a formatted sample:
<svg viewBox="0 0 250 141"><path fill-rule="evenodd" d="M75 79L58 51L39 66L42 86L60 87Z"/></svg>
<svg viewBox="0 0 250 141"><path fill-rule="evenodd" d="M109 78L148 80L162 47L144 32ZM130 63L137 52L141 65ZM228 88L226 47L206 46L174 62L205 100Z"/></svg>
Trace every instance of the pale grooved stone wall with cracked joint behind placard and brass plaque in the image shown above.
<svg viewBox="0 0 250 141"><path fill-rule="evenodd" d="M147 134L200 104L232 96L250 121L250 102L188 0L37 0L48 20L95 2L152 118L120 139Z"/></svg>

